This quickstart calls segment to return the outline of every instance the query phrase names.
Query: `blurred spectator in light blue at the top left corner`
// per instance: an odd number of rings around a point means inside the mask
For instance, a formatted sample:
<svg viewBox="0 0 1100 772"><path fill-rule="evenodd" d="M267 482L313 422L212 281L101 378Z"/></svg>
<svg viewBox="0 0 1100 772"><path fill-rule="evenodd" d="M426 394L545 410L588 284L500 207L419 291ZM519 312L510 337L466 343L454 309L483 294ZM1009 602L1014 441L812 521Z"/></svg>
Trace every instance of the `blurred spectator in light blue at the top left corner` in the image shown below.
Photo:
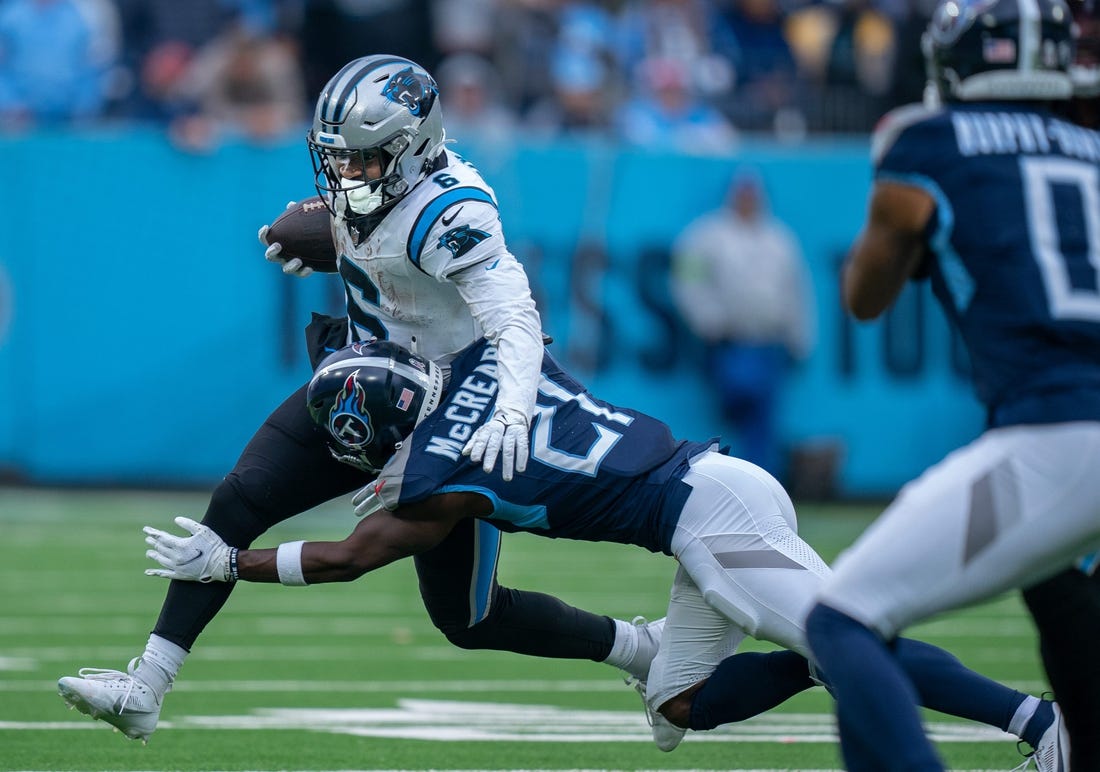
<svg viewBox="0 0 1100 772"><path fill-rule="evenodd" d="M108 0L0 3L0 124L101 115L118 53L119 19Z"/></svg>

